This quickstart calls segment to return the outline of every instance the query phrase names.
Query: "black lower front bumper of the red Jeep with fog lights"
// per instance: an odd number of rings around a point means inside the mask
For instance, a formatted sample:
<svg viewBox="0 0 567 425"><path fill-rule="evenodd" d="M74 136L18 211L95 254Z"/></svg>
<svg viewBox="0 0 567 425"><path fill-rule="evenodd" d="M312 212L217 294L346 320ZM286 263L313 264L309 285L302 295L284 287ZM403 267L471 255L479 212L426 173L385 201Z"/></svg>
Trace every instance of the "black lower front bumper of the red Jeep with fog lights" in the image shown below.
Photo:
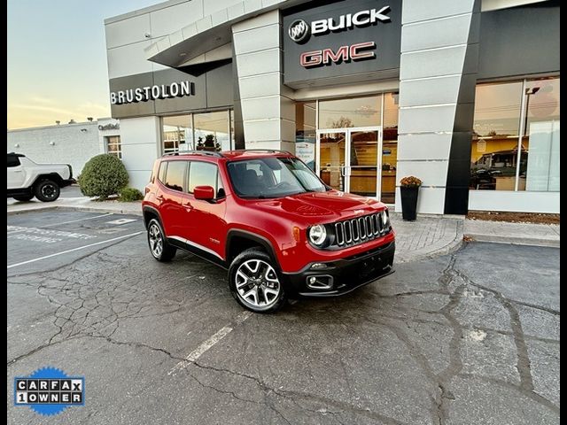
<svg viewBox="0 0 567 425"><path fill-rule="evenodd" d="M291 298L337 297L393 273L395 243L334 261L309 263L297 273L283 273Z"/></svg>

